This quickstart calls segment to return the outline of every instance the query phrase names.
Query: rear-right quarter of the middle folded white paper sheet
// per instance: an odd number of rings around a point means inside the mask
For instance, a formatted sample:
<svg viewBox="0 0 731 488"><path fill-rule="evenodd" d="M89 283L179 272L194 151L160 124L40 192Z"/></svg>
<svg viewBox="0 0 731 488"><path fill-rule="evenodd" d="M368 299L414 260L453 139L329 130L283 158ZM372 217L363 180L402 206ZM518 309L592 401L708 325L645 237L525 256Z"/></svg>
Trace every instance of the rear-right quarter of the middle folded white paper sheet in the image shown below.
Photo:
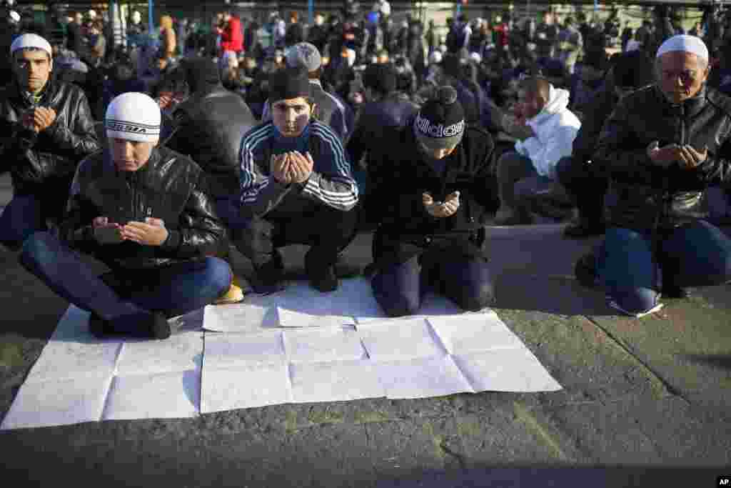
<svg viewBox="0 0 731 488"><path fill-rule="evenodd" d="M287 360L298 362L367 359L360 334L353 326L284 331Z"/></svg>

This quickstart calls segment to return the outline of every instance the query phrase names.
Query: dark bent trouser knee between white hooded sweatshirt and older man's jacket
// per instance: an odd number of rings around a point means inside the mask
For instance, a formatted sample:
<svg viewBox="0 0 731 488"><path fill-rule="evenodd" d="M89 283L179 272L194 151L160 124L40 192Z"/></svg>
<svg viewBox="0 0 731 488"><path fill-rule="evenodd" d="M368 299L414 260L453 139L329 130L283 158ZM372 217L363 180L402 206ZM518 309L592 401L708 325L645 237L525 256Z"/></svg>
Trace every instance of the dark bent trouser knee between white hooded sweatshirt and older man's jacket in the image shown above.
<svg viewBox="0 0 731 488"><path fill-rule="evenodd" d="M558 181L576 200L579 215L590 222L604 222L604 197L609 181L596 174L586 161L563 157L556 165Z"/></svg>

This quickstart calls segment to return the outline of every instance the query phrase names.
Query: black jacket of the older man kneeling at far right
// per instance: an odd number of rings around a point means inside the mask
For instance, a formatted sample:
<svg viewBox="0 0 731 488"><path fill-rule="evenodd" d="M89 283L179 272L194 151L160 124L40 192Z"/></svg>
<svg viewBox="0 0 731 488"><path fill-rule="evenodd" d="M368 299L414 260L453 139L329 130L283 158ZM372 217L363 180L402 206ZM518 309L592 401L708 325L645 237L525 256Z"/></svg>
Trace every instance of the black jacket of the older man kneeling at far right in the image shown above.
<svg viewBox="0 0 731 488"><path fill-rule="evenodd" d="M673 228L707 217L705 189L731 179L731 98L704 88L681 105L671 105L657 86L622 99L602 129L594 162L610 176L607 208L611 225L636 230ZM687 170L661 168L651 162L648 146L658 141L689 144L708 158Z"/></svg>

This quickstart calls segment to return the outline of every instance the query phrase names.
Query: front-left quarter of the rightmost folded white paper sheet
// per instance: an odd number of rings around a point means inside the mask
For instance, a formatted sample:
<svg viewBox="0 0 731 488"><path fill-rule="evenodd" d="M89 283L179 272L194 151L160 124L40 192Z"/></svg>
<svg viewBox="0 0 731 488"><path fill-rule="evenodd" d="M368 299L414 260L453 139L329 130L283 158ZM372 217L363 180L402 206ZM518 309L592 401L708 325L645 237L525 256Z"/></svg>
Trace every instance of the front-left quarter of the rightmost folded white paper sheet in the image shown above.
<svg viewBox="0 0 731 488"><path fill-rule="evenodd" d="M442 397L474 389L451 356L376 362L386 397L392 399Z"/></svg>

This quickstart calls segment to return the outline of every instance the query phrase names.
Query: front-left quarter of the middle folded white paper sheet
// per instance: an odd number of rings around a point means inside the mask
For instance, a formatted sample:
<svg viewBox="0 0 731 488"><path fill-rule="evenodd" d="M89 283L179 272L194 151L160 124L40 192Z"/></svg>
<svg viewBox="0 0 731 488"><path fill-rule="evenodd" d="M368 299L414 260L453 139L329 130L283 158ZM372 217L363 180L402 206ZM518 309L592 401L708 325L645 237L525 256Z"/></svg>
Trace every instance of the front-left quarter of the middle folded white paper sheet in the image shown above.
<svg viewBox="0 0 731 488"><path fill-rule="evenodd" d="M284 362L208 369L204 361L201 378L201 413L292 402L289 367Z"/></svg>

